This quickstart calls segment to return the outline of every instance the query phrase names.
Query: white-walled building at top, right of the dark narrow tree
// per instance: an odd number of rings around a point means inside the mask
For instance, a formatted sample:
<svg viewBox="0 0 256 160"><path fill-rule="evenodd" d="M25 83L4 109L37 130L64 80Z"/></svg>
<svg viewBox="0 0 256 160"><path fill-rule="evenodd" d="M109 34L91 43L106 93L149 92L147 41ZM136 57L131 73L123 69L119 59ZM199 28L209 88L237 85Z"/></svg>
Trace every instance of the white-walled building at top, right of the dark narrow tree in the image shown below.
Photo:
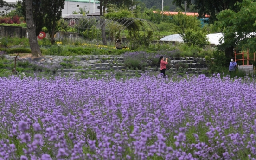
<svg viewBox="0 0 256 160"><path fill-rule="evenodd" d="M89 14L99 12L97 7L100 7L100 2L96 0L65 0L64 9L62 10L62 17L66 17L72 14L73 11L79 11L79 8L83 8L89 11Z"/></svg>

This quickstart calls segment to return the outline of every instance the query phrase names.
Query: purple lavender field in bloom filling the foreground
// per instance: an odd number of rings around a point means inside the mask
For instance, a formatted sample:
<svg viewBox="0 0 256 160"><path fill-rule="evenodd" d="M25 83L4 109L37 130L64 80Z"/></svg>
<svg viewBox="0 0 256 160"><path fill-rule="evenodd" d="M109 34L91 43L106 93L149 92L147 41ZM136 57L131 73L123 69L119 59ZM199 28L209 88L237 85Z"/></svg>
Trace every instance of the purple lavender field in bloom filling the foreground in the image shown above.
<svg viewBox="0 0 256 160"><path fill-rule="evenodd" d="M0 160L256 160L255 77L0 84Z"/></svg>

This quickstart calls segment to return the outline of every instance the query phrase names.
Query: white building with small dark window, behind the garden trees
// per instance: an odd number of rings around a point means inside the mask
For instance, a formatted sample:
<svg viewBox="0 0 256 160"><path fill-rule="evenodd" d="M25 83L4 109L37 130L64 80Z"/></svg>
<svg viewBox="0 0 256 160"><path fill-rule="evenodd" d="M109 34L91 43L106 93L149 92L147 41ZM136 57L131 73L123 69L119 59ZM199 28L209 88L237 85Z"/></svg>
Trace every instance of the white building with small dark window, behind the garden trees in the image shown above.
<svg viewBox="0 0 256 160"><path fill-rule="evenodd" d="M66 17L69 16L70 14L72 14L73 11L79 11L79 7L77 7L77 5L79 5L80 8L83 8L85 6L85 10L89 11L89 14L91 13L95 13L95 12L99 12L100 10L97 9L97 6L100 6L99 3L86 3L86 2L72 2L72 1L65 1L65 5L64 5L64 9L62 10L62 17ZM89 7L90 6L90 7Z"/></svg>

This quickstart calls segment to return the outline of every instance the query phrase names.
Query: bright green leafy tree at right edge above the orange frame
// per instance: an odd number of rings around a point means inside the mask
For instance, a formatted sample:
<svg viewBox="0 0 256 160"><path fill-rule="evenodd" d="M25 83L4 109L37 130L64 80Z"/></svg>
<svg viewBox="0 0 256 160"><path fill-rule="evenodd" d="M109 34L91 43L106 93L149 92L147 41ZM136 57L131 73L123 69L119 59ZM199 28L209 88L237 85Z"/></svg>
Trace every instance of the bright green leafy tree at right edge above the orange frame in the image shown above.
<svg viewBox="0 0 256 160"><path fill-rule="evenodd" d="M236 13L232 10L221 11L217 15L218 21L215 22L216 28L223 29L224 43L223 48L238 47L256 51L256 2L254 0L243 0L237 2L236 7L240 10ZM228 57L233 57L233 51L227 53Z"/></svg>

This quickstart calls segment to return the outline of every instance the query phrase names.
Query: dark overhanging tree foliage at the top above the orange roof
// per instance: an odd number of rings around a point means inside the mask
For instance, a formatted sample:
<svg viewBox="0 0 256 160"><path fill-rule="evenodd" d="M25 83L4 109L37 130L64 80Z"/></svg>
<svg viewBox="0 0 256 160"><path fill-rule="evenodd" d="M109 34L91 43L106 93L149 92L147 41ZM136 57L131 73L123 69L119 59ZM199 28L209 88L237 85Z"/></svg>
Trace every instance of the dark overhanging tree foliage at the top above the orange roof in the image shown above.
<svg viewBox="0 0 256 160"><path fill-rule="evenodd" d="M237 12L239 7L234 6L234 4L242 0L186 0L187 6L191 6L192 1L194 1L194 8L198 10L200 17L204 17L205 14L210 15L210 22L214 22L216 15L222 10L230 9ZM173 0L172 3L184 10L184 2L185 0Z"/></svg>

